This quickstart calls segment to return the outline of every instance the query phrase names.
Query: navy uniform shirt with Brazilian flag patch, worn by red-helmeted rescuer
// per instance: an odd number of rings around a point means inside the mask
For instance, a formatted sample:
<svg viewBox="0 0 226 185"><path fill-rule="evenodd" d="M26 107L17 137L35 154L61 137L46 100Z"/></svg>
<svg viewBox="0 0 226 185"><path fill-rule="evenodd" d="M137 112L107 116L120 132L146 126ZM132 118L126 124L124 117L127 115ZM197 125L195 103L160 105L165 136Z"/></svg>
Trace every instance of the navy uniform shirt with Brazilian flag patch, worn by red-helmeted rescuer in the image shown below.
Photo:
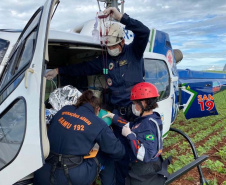
<svg viewBox="0 0 226 185"><path fill-rule="evenodd" d="M118 115L113 118L113 124L123 127L128 122ZM132 133L127 136L131 151L131 161L156 161L162 152L162 121L157 112L139 117L130 123ZM159 129L159 133L158 133Z"/></svg>

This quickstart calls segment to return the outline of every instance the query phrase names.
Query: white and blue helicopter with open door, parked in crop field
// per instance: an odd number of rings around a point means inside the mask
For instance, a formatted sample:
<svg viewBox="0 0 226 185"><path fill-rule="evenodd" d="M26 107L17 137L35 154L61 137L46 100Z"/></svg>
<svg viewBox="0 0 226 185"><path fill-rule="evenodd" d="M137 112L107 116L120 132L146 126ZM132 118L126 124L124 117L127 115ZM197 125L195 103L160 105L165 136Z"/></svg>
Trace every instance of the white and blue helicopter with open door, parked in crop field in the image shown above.
<svg viewBox="0 0 226 185"><path fill-rule="evenodd" d="M121 5L124 12L124 3L117 0L97 2L117 8ZM0 51L0 184L32 184L32 173L43 166L49 154L45 101L53 88L45 78L46 71L88 62L103 51L100 42L92 36L95 20L74 27L73 32L49 30L58 4L58 0L47 0L22 31L0 30L3 46ZM124 32L126 44L131 43L133 33L125 29ZM204 184L200 163L208 156L198 157L188 136L171 125L180 109L188 119L216 115L213 80L223 87L226 77L223 74L200 81L194 80L197 76L191 71L178 71L176 64L182 60L182 52L172 48L167 33L156 29L150 31L143 58L145 81L154 84L160 94L155 111L161 115L163 137L175 131L182 134L194 150L195 160L171 174L166 184L196 166ZM58 76L54 81L57 87L72 85L81 91L92 89L97 96L107 88L103 85L104 74L73 79Z"/></svg>

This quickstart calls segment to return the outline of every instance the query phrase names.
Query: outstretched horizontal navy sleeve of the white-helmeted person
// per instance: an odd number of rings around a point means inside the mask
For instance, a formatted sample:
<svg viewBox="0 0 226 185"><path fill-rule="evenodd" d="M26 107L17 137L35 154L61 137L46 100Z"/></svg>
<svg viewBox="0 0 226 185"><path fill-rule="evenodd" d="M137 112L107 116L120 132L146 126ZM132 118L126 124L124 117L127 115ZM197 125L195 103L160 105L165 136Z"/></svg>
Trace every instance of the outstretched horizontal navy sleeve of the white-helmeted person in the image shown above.
<svg viewBox="0 0 226 185"><path fill-rule="evenodd" d="M69 76L86 76L101 73L103 71L103 64L101 57L95 58L89 62L80 64L73 64L58 68L58 74Z"/></svg>

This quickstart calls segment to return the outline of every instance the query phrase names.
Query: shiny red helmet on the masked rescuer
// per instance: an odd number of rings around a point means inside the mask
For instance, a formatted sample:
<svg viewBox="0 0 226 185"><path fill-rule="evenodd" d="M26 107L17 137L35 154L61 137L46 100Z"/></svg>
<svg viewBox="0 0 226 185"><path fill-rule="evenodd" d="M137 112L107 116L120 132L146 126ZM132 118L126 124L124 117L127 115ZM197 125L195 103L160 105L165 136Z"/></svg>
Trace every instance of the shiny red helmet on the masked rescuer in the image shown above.
<svg viewBox="0 0 226 185"><path fill-rule="evenodd" d="M141 82L132 88L130 100L141 100L146 98L155 98L158 96L158 90L153 84Z"/></svg>

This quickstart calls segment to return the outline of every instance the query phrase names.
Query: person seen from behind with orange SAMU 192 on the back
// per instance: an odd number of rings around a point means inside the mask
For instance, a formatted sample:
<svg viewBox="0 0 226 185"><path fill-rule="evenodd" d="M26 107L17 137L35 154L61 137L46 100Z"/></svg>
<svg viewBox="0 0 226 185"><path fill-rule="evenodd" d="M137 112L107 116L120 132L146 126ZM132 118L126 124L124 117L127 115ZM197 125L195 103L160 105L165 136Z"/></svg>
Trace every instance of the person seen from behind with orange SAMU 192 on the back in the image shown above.
<svg viewBox="0 0 226 185"><path fill-rule="evenodd" d="M125 149L108 125L97 117L99 110L99 99L88 90L75 105L64 106L57 112L48 129L50 155L35 172L35 185L90 185L98 175L99 163L106 168L100 172L102 184L115 184L114 168L109 165L121 159ZM90 151L95 143L100 151L97 157L92 157ZM91 158L87 158L89 155Z"/></svg>

